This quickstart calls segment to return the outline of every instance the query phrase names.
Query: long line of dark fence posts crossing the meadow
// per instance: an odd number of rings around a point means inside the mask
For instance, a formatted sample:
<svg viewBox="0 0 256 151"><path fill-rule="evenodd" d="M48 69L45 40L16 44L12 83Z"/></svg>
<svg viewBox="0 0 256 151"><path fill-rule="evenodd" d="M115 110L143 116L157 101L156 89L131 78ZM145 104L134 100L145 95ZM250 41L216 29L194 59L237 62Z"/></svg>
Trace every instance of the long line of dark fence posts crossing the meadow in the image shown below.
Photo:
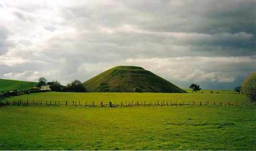
<svg viewBox="0 0 256 151"><path fill-rule="evenodd" d="M113 103L112 101L108 101L108 103L104 103L103 101L100 101L98 103L95 103L94 101L91 101L88 103L88 101L21 101L21 100L0 100L0 106L84 106L84 107L146 107L146 106L251 106L256 107L256 102L248 102L248 101L235 101L235 102L229 102L229 101L121 101L117 103Z"/></svg>

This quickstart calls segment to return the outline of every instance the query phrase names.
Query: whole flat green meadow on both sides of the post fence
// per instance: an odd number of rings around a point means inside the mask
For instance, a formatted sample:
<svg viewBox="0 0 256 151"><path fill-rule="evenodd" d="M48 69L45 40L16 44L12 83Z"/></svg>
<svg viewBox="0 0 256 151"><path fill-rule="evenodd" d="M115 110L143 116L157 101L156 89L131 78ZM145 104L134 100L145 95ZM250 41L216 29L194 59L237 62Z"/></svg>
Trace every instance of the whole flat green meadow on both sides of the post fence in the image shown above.
<svg viewBox="0 0 256 151"><path fill-rule="evenodd" d="M0 150L256 150L256 106L242 105L247 101L244 95L186 91L189 93L42 92L6 98L9 102L28 100L30 105L0 107ZM55 101L60 105L54 106ZM84 107L85 102L99 105L101 101L195 101L196 105ZM46 106L46 102L52 105Z"/></svg>

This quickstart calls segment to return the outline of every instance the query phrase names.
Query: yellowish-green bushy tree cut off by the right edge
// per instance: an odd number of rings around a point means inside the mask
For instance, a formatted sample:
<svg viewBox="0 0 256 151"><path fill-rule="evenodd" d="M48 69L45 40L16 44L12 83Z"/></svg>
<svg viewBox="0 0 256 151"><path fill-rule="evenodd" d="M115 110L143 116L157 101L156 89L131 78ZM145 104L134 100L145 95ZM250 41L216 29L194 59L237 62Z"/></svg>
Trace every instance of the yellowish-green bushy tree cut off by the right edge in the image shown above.
<svg viewBox="0 0 256 151"><path fill-rule="evenodd" d="M242 92L250 101L256 101L256 72L253 72L243 81Z"/></svg>

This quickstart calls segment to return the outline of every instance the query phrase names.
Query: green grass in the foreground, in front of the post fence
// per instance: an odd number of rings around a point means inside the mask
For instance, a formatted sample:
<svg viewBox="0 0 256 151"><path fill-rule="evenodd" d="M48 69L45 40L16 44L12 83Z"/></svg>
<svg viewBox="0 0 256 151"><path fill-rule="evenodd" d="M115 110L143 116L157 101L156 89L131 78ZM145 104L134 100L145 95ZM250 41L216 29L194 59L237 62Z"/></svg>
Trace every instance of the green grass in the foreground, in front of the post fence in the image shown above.
<svg viewBox="0 0 256 151"><path fill-rule="evenodd" d="M256 150L251 107L1 107L0 150Z"/></svg>

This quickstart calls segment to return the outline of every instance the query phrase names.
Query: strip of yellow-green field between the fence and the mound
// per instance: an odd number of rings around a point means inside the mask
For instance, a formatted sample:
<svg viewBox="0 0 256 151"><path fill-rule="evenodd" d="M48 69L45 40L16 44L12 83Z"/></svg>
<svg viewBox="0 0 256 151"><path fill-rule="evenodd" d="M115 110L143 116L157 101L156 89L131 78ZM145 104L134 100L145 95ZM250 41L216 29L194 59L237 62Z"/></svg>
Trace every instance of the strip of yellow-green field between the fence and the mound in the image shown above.
<svg viewBox="0 0 256 151"><path fill-rule="evenodd" d="M169 102L172 101L172 103L177 102L185 102L189 103L192 101L196 101L196 103L199 103L202 101L205 103L206 101L210 101L210 103L213 103L215 101L216 103L222 102L227 103L228 101L230 103L237 102L243 102L246 101L244 95L240 94L233 94L227 93L227 92L220 92L220 93L110 93L110 92L95 92L95 93L75 93L75 92L43 92L43 93L32 93L32 94L26 94L21 95L17 97L8 98L9 101L13 100L21 100L21 101L27 101L32 102L34 101L43 101L44 103L46 101L61 101L62 104L64 104L64 101L68 101L69 104L73 101L81 102L81 104L84 104L86 101L89 104L92 104L92 101L94 103L99 104L100 101L103 101L105 104L109 101L112 101L113 103L120 104L121 102L126 103L133 101L133 103L136 103L139 101L139 103L146 102L151 103L154 102Z"/></svg>

